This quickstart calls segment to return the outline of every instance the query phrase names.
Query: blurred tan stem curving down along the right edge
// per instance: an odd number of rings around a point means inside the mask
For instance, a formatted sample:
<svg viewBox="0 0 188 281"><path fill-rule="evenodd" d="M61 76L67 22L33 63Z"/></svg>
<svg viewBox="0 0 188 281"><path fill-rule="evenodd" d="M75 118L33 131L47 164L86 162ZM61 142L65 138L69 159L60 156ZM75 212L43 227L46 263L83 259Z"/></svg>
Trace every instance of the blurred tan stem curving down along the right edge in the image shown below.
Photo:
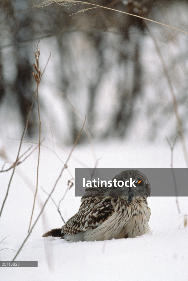
<svg viewBox="0 0 188 281"><path fill-rule="evenodd" d="M148 26L147 23L145 23L145 27L147 28L147 30L149 32L149 35L151 36L151 38L154 41L155 48L156 48L157 53L159 55L159 58L161 60L161 63L162 63L163 69L164 69L164 73L165 73L165 77L166 77L167 82L168 82L170 94L172 96L172 101L173 101L173 106L174 106L174 111L175 111L175 117L176 117L176 120L177 120L177 123L178 123L178 130L179 130L179 133L180 133L180 140L181 140L181 144L182 144L182 148L183 148L185 163L186 163L186 166L188 168L188 153L187 153L187 148L186 148L186 144L185 144L185 137L184 137L184 134L183 134L183 127L182 127L181 120L180 120L180 115L179 115L179 112L178 112L178 104L177 104L177 100L176 100L176 97L175 97L174 89L173 89L173 86L172 86L172 81L171 81L168 69L166 67L165 61L163 59L163 56L161 54L159 45L158 45L155 37L153 36L151 30L149 29L149 26Z"/></svg>

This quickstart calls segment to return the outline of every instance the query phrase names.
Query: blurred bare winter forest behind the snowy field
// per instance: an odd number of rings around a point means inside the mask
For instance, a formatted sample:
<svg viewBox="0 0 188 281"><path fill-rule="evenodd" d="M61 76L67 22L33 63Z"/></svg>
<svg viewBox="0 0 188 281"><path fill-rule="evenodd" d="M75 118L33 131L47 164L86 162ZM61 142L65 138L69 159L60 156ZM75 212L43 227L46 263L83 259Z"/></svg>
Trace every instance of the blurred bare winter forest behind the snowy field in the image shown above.
<svg viewBox="0 0 188 281"><path fill-rule="evenodd" d="M172 87L187 134L186 33L86 4L34 7L39 3L0 3L2 138L9 130L18 132L21 124L22 130L25 124L35 87L32 64L39 40L42 69L51 51L51 64L40 90L43 130L48 130L45 124L50 122L59 140L73 143L87 116L94 139L127 138L131 133L135 139L174 138L178 125ZM187 1L92 3L187 31ZM86 8L93 9L75 14ZM172 85L164 74L161 55ZM34 104L27 130L30 138L37 132L37 116ZM86 135L81 141L87 141Z"/></svg>

